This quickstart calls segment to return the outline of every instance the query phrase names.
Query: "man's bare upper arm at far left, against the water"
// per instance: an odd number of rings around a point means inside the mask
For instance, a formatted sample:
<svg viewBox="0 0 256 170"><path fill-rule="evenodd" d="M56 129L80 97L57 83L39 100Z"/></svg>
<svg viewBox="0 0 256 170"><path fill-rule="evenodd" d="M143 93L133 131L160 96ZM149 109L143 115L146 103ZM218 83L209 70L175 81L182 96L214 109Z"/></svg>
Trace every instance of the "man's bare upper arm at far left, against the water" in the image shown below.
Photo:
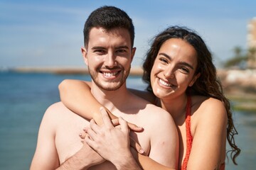
<svg viewBox="0 0 256 170"><path fill-rule="evenodd" d="M59 166L58 153L55 147L54 115L50 106L43 115L38 132L36 152L31 162L31 170L55 169Z"/></svg>

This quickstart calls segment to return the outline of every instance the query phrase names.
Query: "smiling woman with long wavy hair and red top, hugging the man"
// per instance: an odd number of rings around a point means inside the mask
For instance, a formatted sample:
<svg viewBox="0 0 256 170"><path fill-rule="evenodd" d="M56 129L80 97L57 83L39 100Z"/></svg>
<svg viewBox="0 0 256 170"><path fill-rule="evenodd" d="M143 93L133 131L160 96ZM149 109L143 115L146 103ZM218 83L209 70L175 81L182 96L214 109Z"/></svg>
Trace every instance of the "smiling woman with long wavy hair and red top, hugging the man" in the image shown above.
<svg viewBox="0 0 256 170"><path fill-rule="evenodd" d="M173 116L179 135L179 169L225 169L226 137L236 164L240 149L235 145L230 103L201 37L187 28L167 28L154 38L143 68L148 92L134 93ZM82 81L60 84L60 96L68 108L101 123L100 104L85 99L89 90ZM85 106L85 102L90 103Z"/></svg>

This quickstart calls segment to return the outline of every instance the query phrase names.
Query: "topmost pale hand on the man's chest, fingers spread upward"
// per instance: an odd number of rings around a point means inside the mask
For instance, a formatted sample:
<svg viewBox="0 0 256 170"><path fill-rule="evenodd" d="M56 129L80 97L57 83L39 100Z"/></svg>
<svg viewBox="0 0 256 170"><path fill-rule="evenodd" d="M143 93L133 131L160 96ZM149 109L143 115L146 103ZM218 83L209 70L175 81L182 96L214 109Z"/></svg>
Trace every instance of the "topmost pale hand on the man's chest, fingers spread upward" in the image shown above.
<svg viewBox="0 0 256 170"><path fill-rule="evenodd" d="M90 121L90 128L86 128L85 142L102 157L112 162L124 162L132 157L129 150L129 127L127 122L119 118L119 128L114 128L105 109L101 108L103 125L99 126L94 120ZM82 135L81 135L82 136ZM134 143L134 142L133 142Z"/></svg>

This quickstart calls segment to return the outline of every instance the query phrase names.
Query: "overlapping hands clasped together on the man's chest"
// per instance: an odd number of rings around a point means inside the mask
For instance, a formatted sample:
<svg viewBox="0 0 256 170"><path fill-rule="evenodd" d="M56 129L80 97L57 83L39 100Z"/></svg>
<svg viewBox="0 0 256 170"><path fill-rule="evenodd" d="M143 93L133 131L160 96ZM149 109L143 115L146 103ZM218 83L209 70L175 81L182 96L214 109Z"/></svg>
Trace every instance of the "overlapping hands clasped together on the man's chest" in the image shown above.
<svg viewBox="0 0 256 170"><path fill-rule="evenodd" d="M104 108L100 108L102 114L102 125L97 125L95 120L90 120L90 126L83 129L80 133L82 142L86 142L102 158L107 161L118 162L119 158L131 154L130 146L140 154L144 154L142 147L129 136L130 130L142 132L143 128L119 117L110 120Z"/></svg>

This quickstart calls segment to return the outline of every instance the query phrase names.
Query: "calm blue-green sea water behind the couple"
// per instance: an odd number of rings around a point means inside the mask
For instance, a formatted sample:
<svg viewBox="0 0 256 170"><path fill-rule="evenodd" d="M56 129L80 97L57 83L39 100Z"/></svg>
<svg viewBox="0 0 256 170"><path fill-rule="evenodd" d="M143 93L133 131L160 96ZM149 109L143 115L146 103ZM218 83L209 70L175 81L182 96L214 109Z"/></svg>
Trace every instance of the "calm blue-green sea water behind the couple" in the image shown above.
<svg viewBox="0 0 256 170"><path fill-rule="evenodd" d="M41 118L51 103L59 101L58 84L63 79L90 77L0 72L0 169L29 169ZM129 77L127 86L144 89L145 84L139 77ZM239 166L230 162L226 169L254 169L256 113L235 112L234 118L242 153Z"/></svg>

